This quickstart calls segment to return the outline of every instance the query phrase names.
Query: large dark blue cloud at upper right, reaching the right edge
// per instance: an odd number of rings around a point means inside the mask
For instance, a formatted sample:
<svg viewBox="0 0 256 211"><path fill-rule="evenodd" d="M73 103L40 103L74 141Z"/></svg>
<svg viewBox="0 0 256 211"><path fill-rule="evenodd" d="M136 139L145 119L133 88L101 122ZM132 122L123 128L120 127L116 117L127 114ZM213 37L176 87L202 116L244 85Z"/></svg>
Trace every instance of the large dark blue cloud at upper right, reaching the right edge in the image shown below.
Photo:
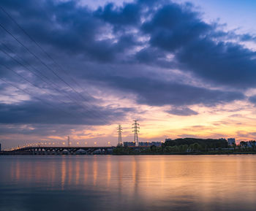
<svg viewBox="0 0 256 211"><path fill-rule="evenodd" d="M221 33L216 25L209 25L199 17L190 8L170 4L143 23L142 29L150 35L151 45L176 55L180 69L211 83L255 87L255 51L217 39L227 33Z"/></svg>

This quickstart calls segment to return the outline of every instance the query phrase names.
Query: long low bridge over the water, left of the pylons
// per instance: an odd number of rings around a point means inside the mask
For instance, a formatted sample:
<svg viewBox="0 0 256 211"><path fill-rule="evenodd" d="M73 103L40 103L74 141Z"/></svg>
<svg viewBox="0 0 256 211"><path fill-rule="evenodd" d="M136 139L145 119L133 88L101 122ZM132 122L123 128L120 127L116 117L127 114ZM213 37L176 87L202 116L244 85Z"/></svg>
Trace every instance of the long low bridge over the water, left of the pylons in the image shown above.
<svg viewBox="0 0 256 211"><path fill-rule="evenodd" d="M5 151L10 155L92 155L112 154L115 147L21 147L19 149Z"/></svg>

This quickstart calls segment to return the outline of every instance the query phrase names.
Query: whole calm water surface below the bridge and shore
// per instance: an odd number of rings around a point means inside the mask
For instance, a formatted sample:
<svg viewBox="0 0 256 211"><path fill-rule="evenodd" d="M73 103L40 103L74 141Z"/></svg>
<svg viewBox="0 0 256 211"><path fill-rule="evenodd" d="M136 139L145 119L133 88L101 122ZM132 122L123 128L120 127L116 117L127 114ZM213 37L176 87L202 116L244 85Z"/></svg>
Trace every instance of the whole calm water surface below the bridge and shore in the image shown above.
<svg viewBox="0 0 256 211"><path fill-rule="evenodd" d="M256 156L0 156L0 210L256 210Z"/></svg>

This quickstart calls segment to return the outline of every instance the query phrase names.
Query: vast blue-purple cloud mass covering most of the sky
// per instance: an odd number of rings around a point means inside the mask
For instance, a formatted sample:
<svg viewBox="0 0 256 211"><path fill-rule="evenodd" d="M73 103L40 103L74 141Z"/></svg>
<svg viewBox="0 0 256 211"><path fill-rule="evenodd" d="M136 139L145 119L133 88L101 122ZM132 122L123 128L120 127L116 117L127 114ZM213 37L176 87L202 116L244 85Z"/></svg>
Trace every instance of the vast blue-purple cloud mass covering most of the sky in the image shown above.
<svg viewBox="0 0 256 211"><path fill-rule="evenodd" d="M256 85L256 52L244 45L255 36L206 23L190 3L92 9L72 0L3 0L1 7L23 28L0 9L3 126L108 125L143 118L135 109L143 106L189 118L200 115L192 105L255 103L245 93Z"/></svg>

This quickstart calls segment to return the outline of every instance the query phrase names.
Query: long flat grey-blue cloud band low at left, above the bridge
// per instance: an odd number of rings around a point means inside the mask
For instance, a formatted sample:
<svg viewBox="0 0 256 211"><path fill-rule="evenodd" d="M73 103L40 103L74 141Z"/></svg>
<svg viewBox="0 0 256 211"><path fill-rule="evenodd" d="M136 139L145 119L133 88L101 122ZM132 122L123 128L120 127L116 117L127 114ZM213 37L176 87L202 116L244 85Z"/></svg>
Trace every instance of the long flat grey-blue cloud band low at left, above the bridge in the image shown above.
<svg viewBox="0 0 256 211"><path fill-rule="evenodd" d="M131 109L108 107L79 107L74 104L59 104L53 101L22 101L15 104L0 104L0 123L11 124L67 124L67 125L105 125L112 118L122 118ZM104 117L104 118L102 118Z"/></svg>

